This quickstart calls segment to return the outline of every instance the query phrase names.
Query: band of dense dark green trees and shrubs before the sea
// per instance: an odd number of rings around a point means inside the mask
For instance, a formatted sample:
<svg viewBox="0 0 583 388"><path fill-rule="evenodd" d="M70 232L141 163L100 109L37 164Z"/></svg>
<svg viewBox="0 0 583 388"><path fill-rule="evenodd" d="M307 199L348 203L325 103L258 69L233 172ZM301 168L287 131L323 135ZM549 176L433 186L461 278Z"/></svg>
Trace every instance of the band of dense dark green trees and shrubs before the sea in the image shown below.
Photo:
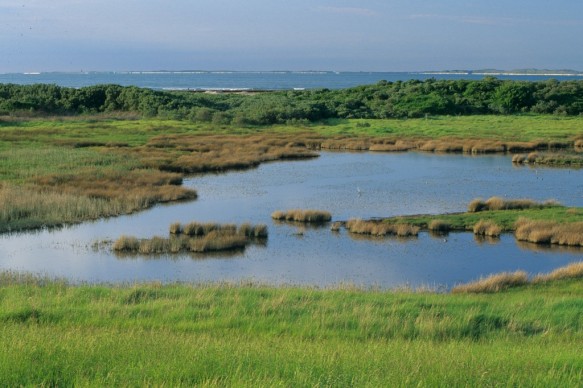
<svg viewBox="0 0 583 388"><path fill-rule="evenodd" d="M583 114L583 81L410 80L354 88L254 94L158 91L134 86L67 88L0 84L0 115L132 112L143 117L268 125L331 118Z"/></svg>

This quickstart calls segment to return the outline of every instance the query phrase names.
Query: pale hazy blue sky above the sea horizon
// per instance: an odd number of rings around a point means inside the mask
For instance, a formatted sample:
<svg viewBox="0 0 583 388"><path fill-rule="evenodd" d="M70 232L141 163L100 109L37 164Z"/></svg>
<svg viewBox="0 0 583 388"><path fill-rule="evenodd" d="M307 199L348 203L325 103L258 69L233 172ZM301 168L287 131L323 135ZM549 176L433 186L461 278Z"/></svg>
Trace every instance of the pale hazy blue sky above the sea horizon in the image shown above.
<svg viewBox="0 0 583 388"><path fill-rule="evenodd" d="M0 0L0 73L583 70L580 0Z"/></svg>

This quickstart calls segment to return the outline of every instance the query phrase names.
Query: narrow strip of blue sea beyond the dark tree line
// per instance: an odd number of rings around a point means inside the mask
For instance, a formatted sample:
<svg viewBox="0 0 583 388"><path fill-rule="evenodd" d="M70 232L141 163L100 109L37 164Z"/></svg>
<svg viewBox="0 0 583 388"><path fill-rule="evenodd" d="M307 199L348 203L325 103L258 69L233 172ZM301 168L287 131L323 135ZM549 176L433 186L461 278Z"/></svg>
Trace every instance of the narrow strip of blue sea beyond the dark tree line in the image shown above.
<svg viewBox="0 0 583 388"><path fill-rule="evenodd" d="M486 76L522 81L583 79L583 75L522 75L474 72L336 72L336 71L121 71L0 74L4 84L54 84L81 88L100 84L156 90L245 91L343 89L359 85L408 80L480 80Z"/></svg>

